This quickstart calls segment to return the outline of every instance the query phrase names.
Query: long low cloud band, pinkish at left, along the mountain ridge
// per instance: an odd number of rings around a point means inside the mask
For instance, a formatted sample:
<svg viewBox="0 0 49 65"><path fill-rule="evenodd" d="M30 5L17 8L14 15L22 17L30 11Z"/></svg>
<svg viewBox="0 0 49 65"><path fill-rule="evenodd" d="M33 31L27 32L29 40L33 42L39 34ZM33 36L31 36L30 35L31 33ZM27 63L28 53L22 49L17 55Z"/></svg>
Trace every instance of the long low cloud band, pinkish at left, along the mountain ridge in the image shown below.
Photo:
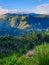
<svg viewBox="0 0 49 65"><path fill-rule="evenodd" d="M31 12L30 10L23 10L23 11L20 11L20 10L17 10L17 9L9 10L9 9L5 9L2 6L0 6L0 15L6 14L6 13L16 13L16 14L26 13L27 14L27 13L30 13L30 12Z"/></svg>

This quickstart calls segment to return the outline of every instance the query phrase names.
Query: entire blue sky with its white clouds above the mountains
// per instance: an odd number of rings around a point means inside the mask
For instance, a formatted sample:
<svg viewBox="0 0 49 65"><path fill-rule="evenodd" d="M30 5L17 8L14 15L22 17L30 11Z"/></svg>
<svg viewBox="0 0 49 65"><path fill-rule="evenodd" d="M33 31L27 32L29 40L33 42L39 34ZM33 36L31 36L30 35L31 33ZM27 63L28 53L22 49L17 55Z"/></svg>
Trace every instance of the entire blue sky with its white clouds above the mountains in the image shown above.
<svg viewBox="0 0 49 65"><path fill-rule="evenodd" d="M0 14L20 12L49 14L49 0L0 0Z"/></svg>

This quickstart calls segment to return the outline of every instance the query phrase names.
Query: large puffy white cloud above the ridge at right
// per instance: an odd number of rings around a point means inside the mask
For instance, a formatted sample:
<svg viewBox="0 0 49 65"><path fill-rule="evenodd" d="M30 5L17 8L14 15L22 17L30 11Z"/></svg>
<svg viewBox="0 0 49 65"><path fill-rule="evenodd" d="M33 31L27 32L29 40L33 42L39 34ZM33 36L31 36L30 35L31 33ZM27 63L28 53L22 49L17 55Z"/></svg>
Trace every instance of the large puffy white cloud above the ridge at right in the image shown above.
<svg viewBox="0 0 49 65"><path fill-rule="evenodd" d="M49 14L49 4L42 4L36 7L36 13Z"/></svg>

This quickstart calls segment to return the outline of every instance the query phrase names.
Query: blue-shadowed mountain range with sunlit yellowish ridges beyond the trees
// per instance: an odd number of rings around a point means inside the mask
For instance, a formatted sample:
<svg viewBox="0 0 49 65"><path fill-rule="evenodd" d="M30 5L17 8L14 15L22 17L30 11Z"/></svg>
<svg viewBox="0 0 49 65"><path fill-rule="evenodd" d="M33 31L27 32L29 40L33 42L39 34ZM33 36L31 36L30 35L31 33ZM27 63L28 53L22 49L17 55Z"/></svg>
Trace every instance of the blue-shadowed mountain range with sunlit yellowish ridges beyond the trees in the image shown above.
<svg viewBox="0 0 49 65"><path fill-rule="evenodd" d="M49 27L49 15L11 14L0 16L0 35L21 35L34 30L46 30Z"/></svg>

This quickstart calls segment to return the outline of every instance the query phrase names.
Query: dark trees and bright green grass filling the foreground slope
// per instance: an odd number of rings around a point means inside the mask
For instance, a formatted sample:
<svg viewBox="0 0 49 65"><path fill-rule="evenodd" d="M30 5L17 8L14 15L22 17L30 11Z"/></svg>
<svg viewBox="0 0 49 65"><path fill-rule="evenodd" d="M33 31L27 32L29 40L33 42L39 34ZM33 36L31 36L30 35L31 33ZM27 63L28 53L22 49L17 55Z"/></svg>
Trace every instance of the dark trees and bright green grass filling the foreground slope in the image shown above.
<svg viewBox="0 0 49 65"><path fill-rule="evenodd" d="M0 65L49 65L47 32L0 36Z"/></svg>

